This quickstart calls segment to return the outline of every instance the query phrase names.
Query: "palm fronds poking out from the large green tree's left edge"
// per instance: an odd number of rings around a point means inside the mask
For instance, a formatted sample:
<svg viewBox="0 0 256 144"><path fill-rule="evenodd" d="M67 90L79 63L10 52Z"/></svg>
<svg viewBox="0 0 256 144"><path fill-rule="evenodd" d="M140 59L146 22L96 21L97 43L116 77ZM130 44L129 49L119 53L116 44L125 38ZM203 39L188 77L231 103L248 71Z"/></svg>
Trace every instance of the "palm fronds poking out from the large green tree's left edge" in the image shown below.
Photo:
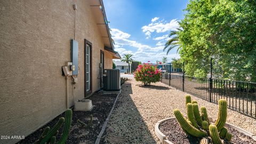
<svg viewBox="0 0 256 144"><path fill-rule="evenodd" d="M182 31L182 29L177 28L177 30L172 30L169 34L168 37L171 37L171 39L169 39L164 46L164 51L167 49L166 55L176 46L178 46L178 51L181 49L180 43L179 43L179 35L178 33ZM172 37L174 36L174 37Z"/></svg>

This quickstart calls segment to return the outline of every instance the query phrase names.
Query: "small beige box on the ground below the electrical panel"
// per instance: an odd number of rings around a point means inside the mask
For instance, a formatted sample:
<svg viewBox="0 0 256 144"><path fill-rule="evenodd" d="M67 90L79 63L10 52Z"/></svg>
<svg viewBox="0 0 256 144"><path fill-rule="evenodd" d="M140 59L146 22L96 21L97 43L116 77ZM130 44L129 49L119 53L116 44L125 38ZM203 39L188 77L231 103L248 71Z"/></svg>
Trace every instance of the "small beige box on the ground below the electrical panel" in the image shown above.
<svg viewBox="0 0 256 144"><path fill-rule="evenodd" d="M84 99L75 102L75 111L90 111L92 108L92 100Z"/></svg>

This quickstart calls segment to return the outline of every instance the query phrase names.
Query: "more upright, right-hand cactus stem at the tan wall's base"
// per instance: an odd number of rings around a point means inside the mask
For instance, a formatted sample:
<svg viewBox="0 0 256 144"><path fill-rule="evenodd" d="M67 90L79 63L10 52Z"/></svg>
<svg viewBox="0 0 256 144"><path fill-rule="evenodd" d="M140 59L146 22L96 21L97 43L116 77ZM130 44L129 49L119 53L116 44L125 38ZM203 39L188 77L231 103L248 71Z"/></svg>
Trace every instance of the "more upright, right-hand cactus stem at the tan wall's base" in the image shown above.
<svg viewBox="0 0 256 144"><path fill-rule="evenodd" d="M64 127L63 134L62 134L58 144L66 143L66 140L68 139L69 130L71 127L71 122L72 122L72 110L67 109L66 113L65 113L65 127Z"/></svg>

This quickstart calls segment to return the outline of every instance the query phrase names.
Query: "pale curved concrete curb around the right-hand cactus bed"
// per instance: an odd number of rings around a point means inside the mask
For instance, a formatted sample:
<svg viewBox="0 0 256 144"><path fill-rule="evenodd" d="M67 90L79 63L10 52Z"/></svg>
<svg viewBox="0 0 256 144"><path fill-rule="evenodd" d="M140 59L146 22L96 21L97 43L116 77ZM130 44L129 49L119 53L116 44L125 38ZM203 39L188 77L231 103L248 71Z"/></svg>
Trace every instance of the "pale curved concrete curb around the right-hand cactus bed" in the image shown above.
<svg viewBox="0 0 256 144"><path fill-rule="evenodd" d="M169 118L165 118L162 119L160 121L158 121L155 125L155 133L157 138L161 141L161 143L163 144L173 144L171 141L166 139L166 135L163 134L160 130L159 130L159 124L163 123L164 121L168 120L168 119L173 119L175 117L169 117ZM256 135L254 135L253 133L249 132L249 131L245 131L244 129L242 129L241 127L226 123L227 125L229 125L230 127L233 127L233 129L237 130L238 132L241 132L249 137L251 137L254 141L256 141Z"/></svg>

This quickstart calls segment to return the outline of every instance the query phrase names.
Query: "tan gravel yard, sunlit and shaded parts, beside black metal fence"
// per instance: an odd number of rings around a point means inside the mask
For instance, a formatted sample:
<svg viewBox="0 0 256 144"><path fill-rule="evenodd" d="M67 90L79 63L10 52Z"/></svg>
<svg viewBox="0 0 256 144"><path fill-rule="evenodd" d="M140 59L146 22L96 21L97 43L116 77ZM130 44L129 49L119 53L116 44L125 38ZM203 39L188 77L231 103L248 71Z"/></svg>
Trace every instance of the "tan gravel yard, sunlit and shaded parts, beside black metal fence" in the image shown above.
<svg viewBox="0 0 256 144"><path fill-rule="evenodd" d="M174 117L175 108L186 114L186 94L161 82L144 87L130 78L123 85L101 143L160 143L154 131L156 122ZM209 117L217 118L218 105L191 98L207 108ZM227 122L256 134L256 119L228 109Z"/></svg>

